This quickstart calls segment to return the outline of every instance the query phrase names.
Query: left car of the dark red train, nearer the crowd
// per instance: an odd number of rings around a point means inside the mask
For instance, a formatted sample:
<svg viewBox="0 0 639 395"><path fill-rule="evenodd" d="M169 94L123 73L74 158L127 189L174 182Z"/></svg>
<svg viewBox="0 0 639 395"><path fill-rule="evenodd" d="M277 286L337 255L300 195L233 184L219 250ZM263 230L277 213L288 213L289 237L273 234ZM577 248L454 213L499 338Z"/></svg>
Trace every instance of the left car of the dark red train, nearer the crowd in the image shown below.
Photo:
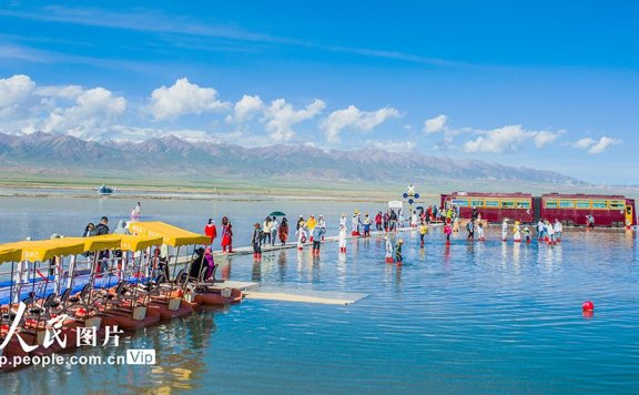
<svg viewBox="0 0 639 395"><path fill-rule="evenodd" d="M519 222L535 220L530 193L453 192L442 195L442 207L447 210L452 205L459 206L463 219L470 219L475 207L488 222L500 222L505 217Z"/></svg>

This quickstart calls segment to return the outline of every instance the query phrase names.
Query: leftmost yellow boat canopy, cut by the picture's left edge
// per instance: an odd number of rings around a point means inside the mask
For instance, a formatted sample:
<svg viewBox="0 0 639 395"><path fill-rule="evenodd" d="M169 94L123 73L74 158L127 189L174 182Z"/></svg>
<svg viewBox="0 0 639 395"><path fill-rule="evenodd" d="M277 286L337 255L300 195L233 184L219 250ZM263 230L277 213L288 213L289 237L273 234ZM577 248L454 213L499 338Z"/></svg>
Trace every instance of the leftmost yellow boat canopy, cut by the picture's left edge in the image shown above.
<svg viewBox="0 0 639 395"><path fill-rule="evenodd" d="M2 249L22 250L22 261L47 261L53 256L77 255L84 252L84 242L78 237L23 241L4 244Z"/></svg>

